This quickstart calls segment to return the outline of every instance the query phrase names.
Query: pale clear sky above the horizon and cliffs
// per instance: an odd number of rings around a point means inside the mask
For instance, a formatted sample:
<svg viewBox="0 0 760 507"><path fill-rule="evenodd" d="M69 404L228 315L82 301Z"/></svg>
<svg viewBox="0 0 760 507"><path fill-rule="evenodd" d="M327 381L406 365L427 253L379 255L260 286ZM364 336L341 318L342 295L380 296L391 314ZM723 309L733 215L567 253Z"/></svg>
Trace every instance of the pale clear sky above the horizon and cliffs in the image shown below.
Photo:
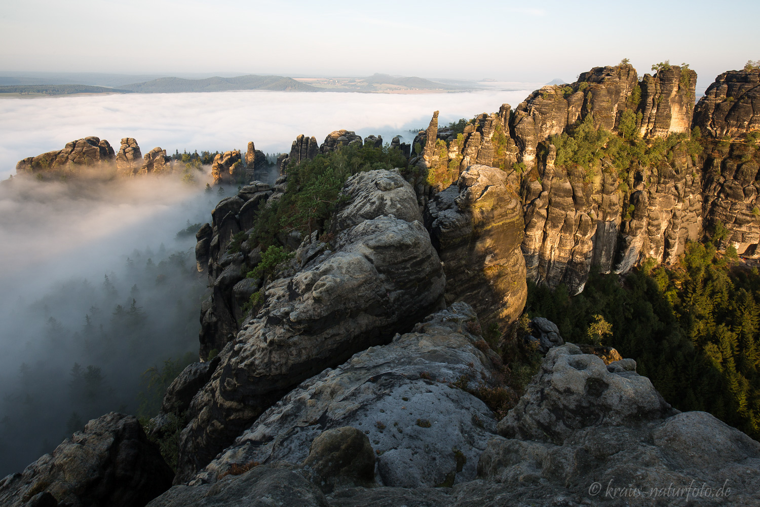
<svg viewBox="0 0 760 507"><path fill-rule="evenodd" d="M0 71L573 81L627 57L689 62L704 89L760 59L757 0L4 3Z"/></svg>

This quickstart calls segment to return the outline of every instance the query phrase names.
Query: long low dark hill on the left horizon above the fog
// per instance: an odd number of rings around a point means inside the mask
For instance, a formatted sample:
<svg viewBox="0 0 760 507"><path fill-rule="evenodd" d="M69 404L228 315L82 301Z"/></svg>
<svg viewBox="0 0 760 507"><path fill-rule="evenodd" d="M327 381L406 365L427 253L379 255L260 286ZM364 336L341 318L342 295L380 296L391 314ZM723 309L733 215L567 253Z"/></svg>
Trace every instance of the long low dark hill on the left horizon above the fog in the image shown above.
<svg viewBox="0 0 760 507"><path fill-rule="evenodd" d="M319 91L317 87L284 76L249 74L236 78L183 79L159 78L144 83L124 84L120 88L137 93L182 93L227 90Z"/></svg>

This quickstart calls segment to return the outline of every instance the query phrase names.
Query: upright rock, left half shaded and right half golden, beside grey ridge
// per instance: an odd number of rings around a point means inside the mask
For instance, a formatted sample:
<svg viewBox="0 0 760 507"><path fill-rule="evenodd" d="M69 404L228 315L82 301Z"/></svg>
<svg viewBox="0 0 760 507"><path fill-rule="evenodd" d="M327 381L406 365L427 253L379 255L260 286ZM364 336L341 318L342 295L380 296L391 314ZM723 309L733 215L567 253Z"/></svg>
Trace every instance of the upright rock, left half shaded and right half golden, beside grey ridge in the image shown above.
<svg viewBox="0 0 760 507"><path fill-rule="evenodd" d="M522 206L507 174L470 166L429 201L426 223L444 263L447 303L464 301L504 331L527 298Z"/></svg>

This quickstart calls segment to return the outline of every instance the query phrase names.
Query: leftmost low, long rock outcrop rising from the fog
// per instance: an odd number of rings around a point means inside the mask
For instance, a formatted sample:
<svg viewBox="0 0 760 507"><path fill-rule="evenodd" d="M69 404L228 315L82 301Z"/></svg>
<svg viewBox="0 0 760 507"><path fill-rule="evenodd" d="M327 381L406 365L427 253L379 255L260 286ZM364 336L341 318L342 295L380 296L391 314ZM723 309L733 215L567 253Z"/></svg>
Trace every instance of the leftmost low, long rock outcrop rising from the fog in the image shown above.
<svg viewBox="0 0 760 507"><path fill-rule="evenodd" d="M105 139L90 136L66 143L62 150L49 151L19 160L16 174L27 174L40 179L49 176L74 176L85 167L111 162L114 151Z"/></svg>

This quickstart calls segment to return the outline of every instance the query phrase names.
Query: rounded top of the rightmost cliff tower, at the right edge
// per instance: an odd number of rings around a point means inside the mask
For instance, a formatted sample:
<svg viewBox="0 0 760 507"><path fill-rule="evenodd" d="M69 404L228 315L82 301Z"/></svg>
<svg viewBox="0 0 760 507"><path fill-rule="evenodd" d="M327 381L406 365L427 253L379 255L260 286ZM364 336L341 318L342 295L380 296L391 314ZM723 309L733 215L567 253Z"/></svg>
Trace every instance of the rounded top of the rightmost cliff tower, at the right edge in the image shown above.
<svg viewBox="0 0 760 507"><path fill-rule="evenodd" d="M717 76L695 107L693 126L703 135L732 141L760 131L760 68Z"/></svg>

